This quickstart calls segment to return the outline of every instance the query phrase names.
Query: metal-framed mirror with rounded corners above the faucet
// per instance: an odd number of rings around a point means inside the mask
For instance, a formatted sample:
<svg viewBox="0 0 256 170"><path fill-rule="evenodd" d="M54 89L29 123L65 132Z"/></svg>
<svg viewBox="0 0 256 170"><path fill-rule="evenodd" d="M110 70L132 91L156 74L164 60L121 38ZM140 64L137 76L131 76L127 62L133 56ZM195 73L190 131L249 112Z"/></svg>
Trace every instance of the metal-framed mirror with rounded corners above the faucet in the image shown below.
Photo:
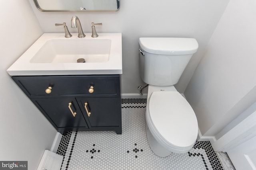
<svg viewBox="0 0 256 170"><path fill-rule="evenodd" d="M43 12L115 12L120 0L34 0Z"/></svg>

